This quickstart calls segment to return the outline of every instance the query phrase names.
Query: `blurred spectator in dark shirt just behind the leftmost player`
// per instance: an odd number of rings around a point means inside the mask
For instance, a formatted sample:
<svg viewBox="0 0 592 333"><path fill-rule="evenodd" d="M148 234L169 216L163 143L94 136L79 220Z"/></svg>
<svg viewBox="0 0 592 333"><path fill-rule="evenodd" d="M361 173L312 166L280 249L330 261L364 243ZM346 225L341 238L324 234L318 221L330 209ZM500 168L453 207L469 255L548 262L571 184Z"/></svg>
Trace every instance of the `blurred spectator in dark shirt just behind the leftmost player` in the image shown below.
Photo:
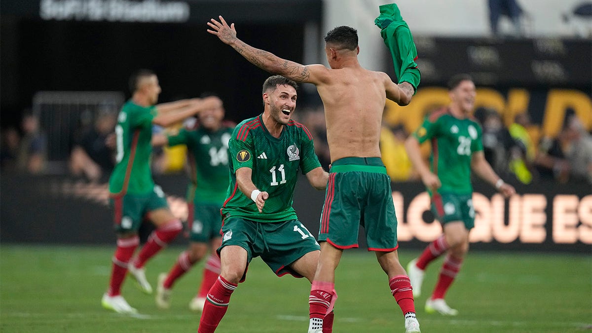
<svg viewBox="0 0 592 333"><path fill-rule="evenodd" d="M94 125L80 133L70 153L72 174L91 182L106 181L114 167L114 150L108 143L117 120L116 110L98 110Z"/></svg>

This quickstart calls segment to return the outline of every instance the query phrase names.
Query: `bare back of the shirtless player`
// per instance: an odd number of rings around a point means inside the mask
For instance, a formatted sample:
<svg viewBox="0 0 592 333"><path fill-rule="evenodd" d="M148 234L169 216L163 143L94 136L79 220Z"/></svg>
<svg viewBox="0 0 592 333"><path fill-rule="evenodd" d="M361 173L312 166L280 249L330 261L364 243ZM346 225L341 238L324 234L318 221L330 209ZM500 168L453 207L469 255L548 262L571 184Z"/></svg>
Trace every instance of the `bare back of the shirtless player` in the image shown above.
<svg viewBox="0 0 592 333"><path fill-rule="evenodd" d="M384 73L361 66L329 69L317 84L327 123L331 161L344 157L381 157L382 112L386 102Z"/></svg>

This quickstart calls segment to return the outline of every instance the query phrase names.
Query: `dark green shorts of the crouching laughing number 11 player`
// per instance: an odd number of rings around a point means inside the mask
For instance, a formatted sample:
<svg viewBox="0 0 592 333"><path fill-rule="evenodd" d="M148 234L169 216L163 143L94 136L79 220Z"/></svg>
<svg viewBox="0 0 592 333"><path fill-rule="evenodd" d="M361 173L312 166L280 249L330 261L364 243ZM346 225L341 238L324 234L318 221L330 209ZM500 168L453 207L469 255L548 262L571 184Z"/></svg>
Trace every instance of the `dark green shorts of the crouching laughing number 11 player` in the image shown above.
<svg viewBox="0 0 592 333"><path fill-rule="evenodd" d="M261 257L277 276L289 273L302 277L289 265L308 252L320 250L314 236L298 220L261 223L230 217L224 220L222 233L218 255L224 246L238 245L247 250L247 267L253 258Z"/></svg>

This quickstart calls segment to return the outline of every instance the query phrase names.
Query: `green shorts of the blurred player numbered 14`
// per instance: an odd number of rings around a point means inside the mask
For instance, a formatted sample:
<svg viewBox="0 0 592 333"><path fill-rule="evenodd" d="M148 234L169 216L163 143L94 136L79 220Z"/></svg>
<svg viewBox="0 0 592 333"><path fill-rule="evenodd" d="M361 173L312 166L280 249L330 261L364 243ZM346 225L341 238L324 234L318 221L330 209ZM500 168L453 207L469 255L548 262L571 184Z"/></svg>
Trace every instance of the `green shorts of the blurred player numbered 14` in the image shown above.
<svg viewBox="0 0 592 333"><path fill-rule="evenodd" d="M191 232L189 237L191 241L208 243L214 238L221 237L221 204L201 204L194 201L187 206L189 211L187 223Z"/></svg>

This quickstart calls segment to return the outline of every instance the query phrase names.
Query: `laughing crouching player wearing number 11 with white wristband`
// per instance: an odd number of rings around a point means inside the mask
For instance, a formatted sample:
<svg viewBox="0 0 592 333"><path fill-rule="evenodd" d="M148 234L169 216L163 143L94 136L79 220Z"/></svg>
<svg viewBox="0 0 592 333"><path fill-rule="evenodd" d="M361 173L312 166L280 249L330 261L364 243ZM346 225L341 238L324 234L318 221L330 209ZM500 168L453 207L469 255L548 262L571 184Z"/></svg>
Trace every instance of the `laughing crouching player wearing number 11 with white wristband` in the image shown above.
<svg viewBox="0 0 592 333"><path fill-rule="evenodd" d="M261 257L277 276L313 281L319 246L298 221L292 197L298 173L317 190L329 174L314 153L313 138L292 120L297 84L276 75L263 83L263 114L242 121L229 142L231 181L222 206L222 269L207 294L198 333L214 332L249 262ZM326 332L331 332L327 327Z"/></svg>

